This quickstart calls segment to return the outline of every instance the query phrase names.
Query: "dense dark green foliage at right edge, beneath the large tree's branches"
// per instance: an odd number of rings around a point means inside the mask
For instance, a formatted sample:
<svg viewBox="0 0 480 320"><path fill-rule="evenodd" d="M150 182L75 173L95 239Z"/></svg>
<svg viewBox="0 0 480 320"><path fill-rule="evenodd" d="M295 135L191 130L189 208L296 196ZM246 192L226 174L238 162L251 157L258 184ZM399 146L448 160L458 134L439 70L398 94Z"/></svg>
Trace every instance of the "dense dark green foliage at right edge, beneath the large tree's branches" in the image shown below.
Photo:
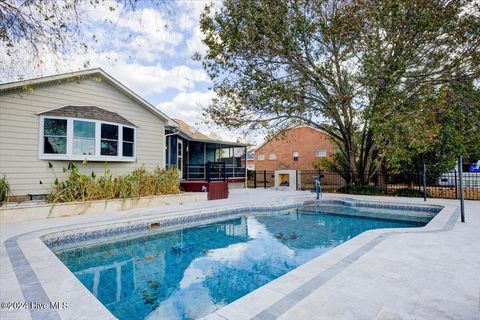
<svg viewBox="0 0 480 320"><path fill-rule="evenodd" d="M479 159L480 90L471 81L450 83L438 91L425 89L378 130L388 142L387 169L412 171L425 163L429 180L436 180L455 166L459 154Z"/></svg>

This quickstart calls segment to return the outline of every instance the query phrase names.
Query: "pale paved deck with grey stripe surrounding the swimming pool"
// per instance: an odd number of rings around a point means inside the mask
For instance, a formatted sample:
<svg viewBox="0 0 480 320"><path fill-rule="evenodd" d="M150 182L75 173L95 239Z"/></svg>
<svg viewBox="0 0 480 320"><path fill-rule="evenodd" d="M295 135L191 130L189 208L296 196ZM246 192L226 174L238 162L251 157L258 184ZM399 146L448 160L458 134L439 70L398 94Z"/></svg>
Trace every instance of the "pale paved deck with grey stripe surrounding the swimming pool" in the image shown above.
<svg viewBox="0 0 480 320"><path fill-rule="evenodd" d="M0 225L1 319L114 318L39 237L57 230L253 204L313 199L309 192L232 190L227 200ZM324 198L424 204L416 198ZM287 273L205 319L479 319L480 201L429 199L445 209L427 227L372 230ZM67 302L65 309L4 309L5 302Z"/></svg>

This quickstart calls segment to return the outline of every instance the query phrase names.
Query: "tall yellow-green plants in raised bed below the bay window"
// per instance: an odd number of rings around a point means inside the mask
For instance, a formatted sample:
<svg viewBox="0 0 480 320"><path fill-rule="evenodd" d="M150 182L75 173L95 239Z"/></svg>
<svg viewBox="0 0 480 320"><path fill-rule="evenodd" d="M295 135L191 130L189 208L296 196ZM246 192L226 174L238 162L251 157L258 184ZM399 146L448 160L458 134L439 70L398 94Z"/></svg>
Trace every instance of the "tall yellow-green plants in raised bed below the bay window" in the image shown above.
<svg viewBox="0 0 480 320"><path fill-rule="evenodd" d="M52 168L51 164L49 167ZM81 173L73 163L63 168L67 177L60 181L55 177L53 189L47 197L52 203L91 201L103 199L126 199L145 196L177 194L180 192L179 172L176 168L153 172L137 168L127 175L113 176L105 165L103 175Z"/></svg>

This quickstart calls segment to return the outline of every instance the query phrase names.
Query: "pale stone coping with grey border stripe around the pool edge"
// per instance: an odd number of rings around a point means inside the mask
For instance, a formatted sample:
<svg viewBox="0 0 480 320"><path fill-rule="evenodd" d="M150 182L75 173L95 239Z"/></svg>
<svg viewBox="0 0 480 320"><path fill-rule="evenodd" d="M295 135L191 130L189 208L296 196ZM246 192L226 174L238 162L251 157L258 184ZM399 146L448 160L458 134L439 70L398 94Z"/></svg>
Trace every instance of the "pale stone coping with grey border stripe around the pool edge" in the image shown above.
<svg viewBox="0 0 480 320"><path fill-rule="evenodd" d="M372 203L395 204L401 206L422 207L418 203L398 203L391 201L377 201L357 198L326 198L331 200L358 200ZM242 210L252 207L263 207L276 210L282 207L292 207L295 204L303 204L311 200L311 196L292 196L281 202L275 203L237 203L229 210ZM428 207L435 204L428 204ZM205 319L273 319L288 310L291 306L312 290L335 277L342 270L361 258L368 251L392 234L412 232L443 232L453 228L458 220L458 210L453 205L436 205L443 209L424 227L415 229L377 229L364 232L357 237L339 245L329 252L310 260L304 265L288 272L272 282L258 288L246 296L220 308ZM26 301L49 303L50 301L67 302L76 305L76 308L36 309L29 308L32 319L69 319L78 317L79 310L82 317L89 319L115 319L115 317L103 306L87 288L68 270L68 268L55 256L42 239L54 232L68 233L80 228L111 226L113 224L129 224L140 221L158 221L192 214L208 215L212 210L225 211L225 205L212 206L205 209L195 210L172 210L139 218L120 219L116 223L102 221L90 223L77 223L66 226L50 227L41 230L26 232L8 238L5 248L13 266L13 271L20 284L22 294ZM224 218L225 219L225 218ZM122 221L123 220L123 221ZM59 280L61 279L61 280ZM261 297L261 299L258 299Z"/></svg>

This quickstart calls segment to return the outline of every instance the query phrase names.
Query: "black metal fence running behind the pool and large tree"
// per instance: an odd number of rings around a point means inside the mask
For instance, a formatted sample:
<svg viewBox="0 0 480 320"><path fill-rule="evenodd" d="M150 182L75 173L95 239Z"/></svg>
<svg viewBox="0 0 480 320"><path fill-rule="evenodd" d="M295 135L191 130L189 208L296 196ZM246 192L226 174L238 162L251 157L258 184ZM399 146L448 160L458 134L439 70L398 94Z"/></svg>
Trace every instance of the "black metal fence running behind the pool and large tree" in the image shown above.
<svg viewBox="0 0 480 320"><path fill-rule="evenodd" d="M320 176L324 192L339 192L341 187L347 185L346 181L335 172L318 170L298 170L297 189L311 190L315 176ZM371 186L384 195L417 196L426 195L429 198L458 199L459 174L457 172L444 173L440 177L427 177L424 190L421 172L402 174L375 174L371 179ZM271 188L275 184L275 171L249 170L247 172L247 186L249 188ZM480 200L480 172L464 172L465 199ZM381 189L381 190L380 190Z"/></svg>

